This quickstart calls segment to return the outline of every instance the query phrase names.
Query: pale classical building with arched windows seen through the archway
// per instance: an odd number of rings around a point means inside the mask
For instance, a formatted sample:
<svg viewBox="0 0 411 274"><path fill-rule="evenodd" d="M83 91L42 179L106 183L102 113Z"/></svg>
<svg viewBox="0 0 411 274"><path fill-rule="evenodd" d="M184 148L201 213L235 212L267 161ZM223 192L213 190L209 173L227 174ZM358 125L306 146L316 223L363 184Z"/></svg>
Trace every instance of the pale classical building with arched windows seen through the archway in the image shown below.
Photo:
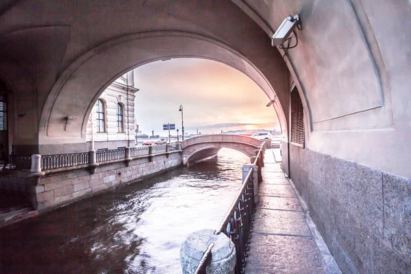
<svg viewBox="0 0 411 274"><path fill-rule="evenodd" d="M86 141L90 149L134 147L134 87L133 71L116 79L104 90L90 116Z"/></svg>

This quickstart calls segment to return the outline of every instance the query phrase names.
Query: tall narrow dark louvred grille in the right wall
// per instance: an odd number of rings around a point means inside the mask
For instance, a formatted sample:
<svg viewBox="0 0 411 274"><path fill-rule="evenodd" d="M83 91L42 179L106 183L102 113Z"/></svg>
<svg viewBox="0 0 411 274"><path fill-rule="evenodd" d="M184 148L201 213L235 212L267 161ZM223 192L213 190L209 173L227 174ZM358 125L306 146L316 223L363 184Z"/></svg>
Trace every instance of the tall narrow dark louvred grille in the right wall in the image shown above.
<svg viewBox="0 0 411 274"><path fill-rule="evenodd" d="M294 88L290 94L291 100L291 142L296 145L304 146L304 109L303 103Z"/></svg>

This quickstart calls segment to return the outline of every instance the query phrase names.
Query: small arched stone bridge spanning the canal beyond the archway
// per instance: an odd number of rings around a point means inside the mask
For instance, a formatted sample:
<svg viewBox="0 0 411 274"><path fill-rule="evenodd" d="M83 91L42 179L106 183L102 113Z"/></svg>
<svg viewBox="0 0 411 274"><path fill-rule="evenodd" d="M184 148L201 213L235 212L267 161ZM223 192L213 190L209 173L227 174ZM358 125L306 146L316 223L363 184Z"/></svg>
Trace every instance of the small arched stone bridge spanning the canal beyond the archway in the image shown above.
<svg viewBox="0 0 411 274"><path fill-rule="evenodd" d="M260 144L261 141L256 138L234 134L198 136L182 142L182 161L186 165L189 162L207 158L218 153L223 147L235 149L251 158L256 155L256 149Z"/></svg>

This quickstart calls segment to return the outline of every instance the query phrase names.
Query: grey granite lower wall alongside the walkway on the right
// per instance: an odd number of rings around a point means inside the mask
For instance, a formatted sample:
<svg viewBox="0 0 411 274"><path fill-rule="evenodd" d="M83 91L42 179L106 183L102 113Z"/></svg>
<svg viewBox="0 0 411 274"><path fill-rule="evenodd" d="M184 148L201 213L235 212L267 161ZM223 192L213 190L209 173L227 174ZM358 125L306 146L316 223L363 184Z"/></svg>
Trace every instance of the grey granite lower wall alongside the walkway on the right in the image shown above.
<svg viewBox="0 0 411 274"><path fill-rule="evenodd" d="M343 273L410 273L411 180L283 143L283 167Z"/></svg>

